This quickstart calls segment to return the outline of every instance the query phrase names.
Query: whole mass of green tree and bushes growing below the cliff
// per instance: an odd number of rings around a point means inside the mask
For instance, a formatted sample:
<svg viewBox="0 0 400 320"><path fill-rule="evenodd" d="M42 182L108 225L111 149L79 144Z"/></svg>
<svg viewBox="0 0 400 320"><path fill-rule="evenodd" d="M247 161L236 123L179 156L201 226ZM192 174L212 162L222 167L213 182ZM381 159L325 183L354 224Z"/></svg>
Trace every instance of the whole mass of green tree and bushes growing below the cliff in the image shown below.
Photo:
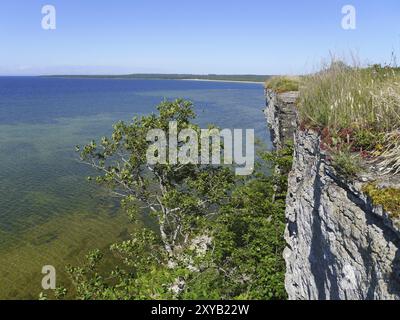
<svg viewBox="0 0 400 320"><path fill-rule="evenodd" d="M291 148L263 153L252 176L221 166L147 163L152 129L199 131L192 104L164 101L159 113L118 123L110 138L78 148L134 218L147 210L159 232L142 227L111 246L113 267L95 250L68 267L81 299L284 299L285 195ZM179 146L178 146L179 147ZM223 148L221 148L223 149ZM271 175L272 173L272 175ZM67 291L58 288L56 297Z"/></svg>

